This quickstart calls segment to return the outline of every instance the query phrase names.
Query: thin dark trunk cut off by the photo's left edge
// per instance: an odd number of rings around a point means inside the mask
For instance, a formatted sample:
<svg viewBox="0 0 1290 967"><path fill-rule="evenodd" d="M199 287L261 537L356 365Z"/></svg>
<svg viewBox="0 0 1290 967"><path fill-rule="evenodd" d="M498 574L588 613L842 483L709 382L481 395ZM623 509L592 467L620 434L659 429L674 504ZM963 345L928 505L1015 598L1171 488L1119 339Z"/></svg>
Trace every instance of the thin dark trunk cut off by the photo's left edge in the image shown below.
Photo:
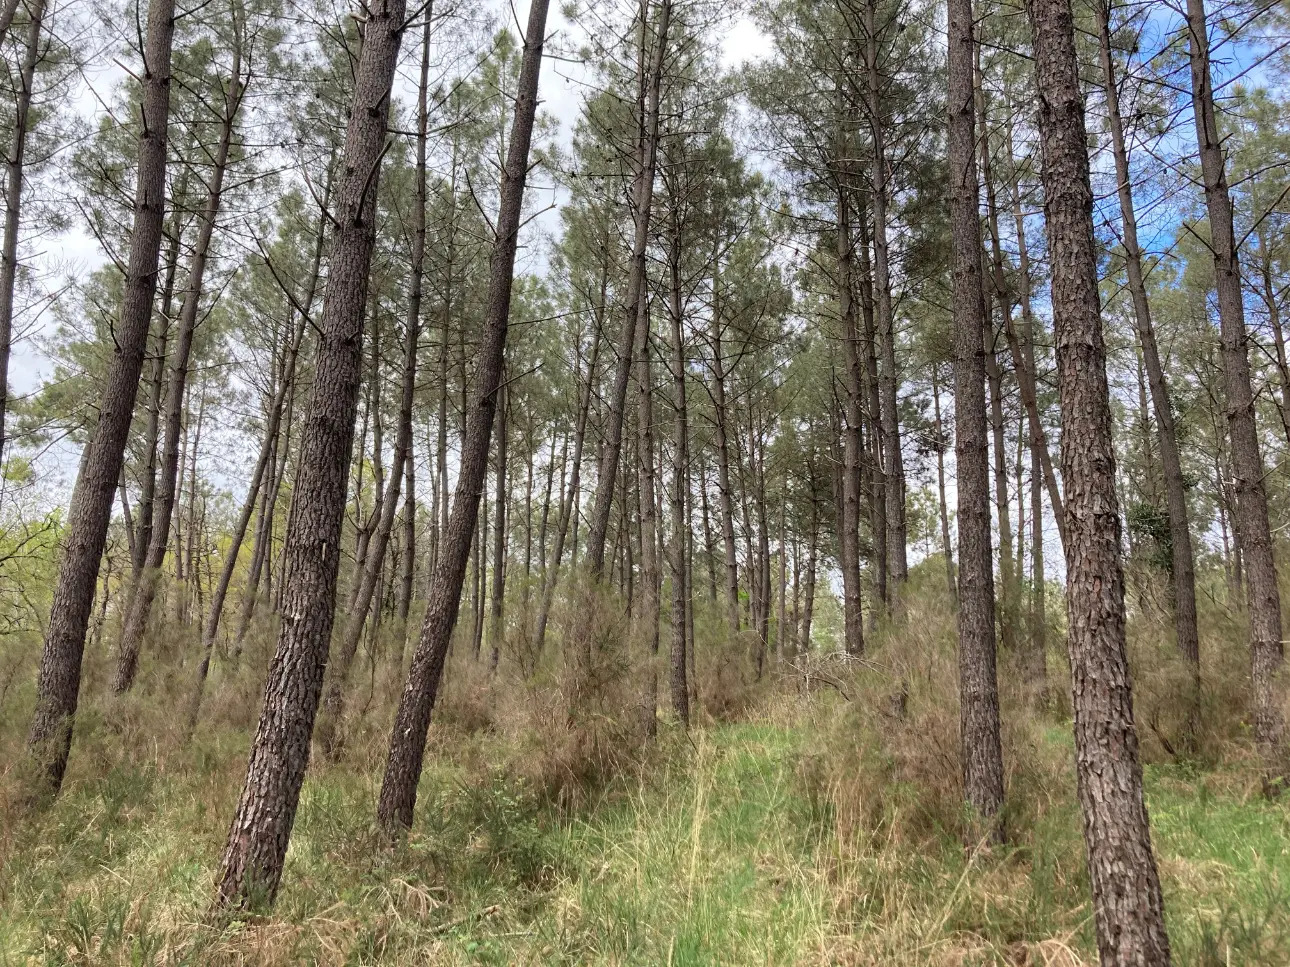
<svg viewBox="0 0 1290 967"><path fill-rule="evenodd" d="M5 8L0 26L0 44L17 6ZM0 250L0 465L4 460L4 420L9 402L9 348L13 342L13 293L18 281L18 226L22 218L22 181L27 155L27 124L31 115L31 92L40 61L40 31L45 17L45 0L34 0L27 13L27 43L18 67L18 89L14 92L13 143L5 171L4 248Z"/></svg>

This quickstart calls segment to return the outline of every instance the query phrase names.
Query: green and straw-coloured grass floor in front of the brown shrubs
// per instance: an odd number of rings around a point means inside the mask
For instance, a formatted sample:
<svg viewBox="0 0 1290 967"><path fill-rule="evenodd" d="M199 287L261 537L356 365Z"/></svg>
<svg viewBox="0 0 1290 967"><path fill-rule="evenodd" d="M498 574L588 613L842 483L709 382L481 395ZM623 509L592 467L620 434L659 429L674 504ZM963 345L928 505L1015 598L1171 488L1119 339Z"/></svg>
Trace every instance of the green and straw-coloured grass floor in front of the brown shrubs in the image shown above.
<svg viewBox="0 0 1290 967"><path fill-rule="evenodd" d="M0 963L1095 963L1069 726L1027 732L1046 765L1010 766L1009 845L979 850L946 814L952 757L938 781L935 756L920 779L897 747L841 748L853 717L780 695L664 728L562 802L506 766L504 735L436 726L452 735L396 851L372 826L373 730L311 768L272 914L212 924L249 732L123 752L86 714L58 802L0 812ZM1175 963L1290 963L1290 808L1245 772L1176 765L1148 766L1147 796Z"/></svg>

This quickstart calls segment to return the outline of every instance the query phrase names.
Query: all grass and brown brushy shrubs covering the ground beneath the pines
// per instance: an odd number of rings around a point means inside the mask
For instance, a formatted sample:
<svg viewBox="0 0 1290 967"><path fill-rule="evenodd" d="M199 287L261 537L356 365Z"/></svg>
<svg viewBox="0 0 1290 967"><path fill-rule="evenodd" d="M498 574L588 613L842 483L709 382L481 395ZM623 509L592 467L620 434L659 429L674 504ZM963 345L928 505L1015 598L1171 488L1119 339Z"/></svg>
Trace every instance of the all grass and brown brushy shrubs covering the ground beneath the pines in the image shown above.
<svg viewBox="0 0 1290 967"><path fill-rule="evenodd" d="M1001 655L1007 842L987 848L961 807L951 610L921 593L863 661L759 683L746 641L700 641L698 721L660 709L651 741L650 665L604 615L583 659L529 676L493 678L459 641L393 850L373 811L397 674L374 663L342 758L311 766L272 913L231 923L209 901L267 646L221 672L187 747L173 669L125 703L88 690L59 799L21 815L13 765L0 780L0 963L1095 963L1062 656L1041 707ZM1206 623L1191 759L1165 748L1161 634L1135 627L1131 650L1175 962L1201 967L1290 963L1290 812L1259 796L1231 624ZM3 716L14 763L21 701Z"/></svg>

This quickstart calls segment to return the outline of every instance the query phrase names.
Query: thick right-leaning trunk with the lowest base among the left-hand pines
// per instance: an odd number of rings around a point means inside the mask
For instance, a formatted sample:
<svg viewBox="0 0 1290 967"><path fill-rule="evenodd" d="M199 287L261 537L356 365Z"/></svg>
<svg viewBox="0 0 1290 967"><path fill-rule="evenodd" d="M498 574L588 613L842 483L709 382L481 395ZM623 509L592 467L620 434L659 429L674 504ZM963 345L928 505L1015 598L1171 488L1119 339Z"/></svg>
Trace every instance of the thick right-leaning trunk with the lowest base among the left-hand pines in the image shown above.
<svg viewBox="0 0 1290 967"><path fill-rule="evenodd" d="M268 669L246 783L228 830L215 905L272 903L310 759L335 610L344 491L353 450L362 321L377 236L377 184L386 151L390 90L399 64L404 0L368 8L353 110L337 190L313 396L283 551L283 627Z"/></svg>

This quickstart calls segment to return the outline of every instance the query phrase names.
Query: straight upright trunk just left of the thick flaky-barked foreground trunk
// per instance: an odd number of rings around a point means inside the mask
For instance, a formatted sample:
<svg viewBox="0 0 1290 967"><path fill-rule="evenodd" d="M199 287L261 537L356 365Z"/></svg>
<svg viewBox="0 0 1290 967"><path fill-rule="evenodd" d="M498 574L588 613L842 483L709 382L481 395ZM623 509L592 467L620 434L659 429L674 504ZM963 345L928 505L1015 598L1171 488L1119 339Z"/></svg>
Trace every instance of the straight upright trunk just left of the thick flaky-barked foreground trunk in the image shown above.
<svg viewBox="0 0 1290 967"><path fill-rule="evenodd" d="M964 792L995 834L1004 756L995 669L995 571L989 534L986 306L973 102L973 5L949 0L949 218L953 245L955 456L958 467L958 700Z"/></svg>

